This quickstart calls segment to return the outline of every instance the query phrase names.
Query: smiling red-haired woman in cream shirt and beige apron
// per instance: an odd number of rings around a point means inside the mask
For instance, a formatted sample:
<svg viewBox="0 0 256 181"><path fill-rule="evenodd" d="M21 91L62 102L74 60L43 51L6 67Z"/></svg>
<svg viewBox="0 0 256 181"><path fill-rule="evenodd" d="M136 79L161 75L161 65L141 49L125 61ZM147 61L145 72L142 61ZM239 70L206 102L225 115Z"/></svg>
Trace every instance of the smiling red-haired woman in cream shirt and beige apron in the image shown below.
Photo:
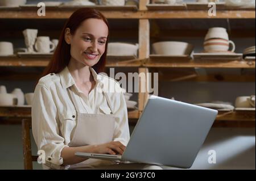
<svg viewBox="0 0 256 181"><path fill-rule="evenodd" d="M98 74L104 70L108 37L108 22L94 9L75 11L61 32L32 102L32 133L46 153L44 169L116 166L75 153L122 154L126 148L130 133L122 89Z"/></svg>

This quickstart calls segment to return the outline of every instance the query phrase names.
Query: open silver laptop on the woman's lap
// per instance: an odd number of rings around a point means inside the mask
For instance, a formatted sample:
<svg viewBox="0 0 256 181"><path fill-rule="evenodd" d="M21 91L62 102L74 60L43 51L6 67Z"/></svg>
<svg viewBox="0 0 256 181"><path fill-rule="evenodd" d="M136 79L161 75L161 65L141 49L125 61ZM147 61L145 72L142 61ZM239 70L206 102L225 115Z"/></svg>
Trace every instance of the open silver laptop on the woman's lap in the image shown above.
<svg viewBox="0 0 256 181"><path fill-rule="evenodd" d="M78 157L188 169L218 111L151 95L122 155L77 152Z"/></svg>

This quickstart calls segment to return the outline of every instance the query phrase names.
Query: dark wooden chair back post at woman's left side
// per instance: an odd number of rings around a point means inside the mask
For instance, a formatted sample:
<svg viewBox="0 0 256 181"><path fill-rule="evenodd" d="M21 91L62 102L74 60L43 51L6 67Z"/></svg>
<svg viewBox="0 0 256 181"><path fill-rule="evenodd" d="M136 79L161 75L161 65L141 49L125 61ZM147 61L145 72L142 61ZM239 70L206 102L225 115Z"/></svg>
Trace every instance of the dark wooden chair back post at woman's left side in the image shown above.
<svg viewBox="0 0 256 181"><path fill-rule="evenodd" d="M31 118L22 119L23 163L25 170L32 170L32 162L38 160L38 156L34 156L31 153L30 129Z"/></svg>

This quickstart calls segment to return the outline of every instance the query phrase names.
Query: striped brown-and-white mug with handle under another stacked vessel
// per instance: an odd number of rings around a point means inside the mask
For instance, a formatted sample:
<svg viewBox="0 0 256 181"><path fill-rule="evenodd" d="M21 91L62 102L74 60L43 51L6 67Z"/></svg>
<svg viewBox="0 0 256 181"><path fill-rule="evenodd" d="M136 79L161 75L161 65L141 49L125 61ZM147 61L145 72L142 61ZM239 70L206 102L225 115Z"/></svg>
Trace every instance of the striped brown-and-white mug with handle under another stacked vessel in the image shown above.
<svg viewBox="0 0 256 181"><path fill-rule="evenodd" d="M205 52L234 52L235 49L236 45L231 40L209 39L204 41Z"/></svg>

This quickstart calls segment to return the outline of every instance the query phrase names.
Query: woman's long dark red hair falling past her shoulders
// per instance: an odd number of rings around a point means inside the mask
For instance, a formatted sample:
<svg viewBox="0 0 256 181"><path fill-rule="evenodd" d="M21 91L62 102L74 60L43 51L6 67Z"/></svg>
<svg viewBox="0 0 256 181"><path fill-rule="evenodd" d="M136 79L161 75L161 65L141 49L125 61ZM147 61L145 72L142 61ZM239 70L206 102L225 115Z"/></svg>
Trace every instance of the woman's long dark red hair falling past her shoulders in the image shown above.
<svg viewBox="0 0 256 181"><path fill-rule="evenodd" d="M65 29L70 28L71 34L73 35L76 32L77 28L80 26L80 24L84 22L84 20L89 18L102 19L109 28L108 20L98 10L91 9L91 8L82 8L73 12L73 14L69 17L69 19L65 23L63 30L61 31L59 44L55 49L55 52L53 54L53 57L51 58L51 61L49 62L46 69L44 69L42 77L49 73L60 73L60 71L63 70L65 66L69 64L69 60L71 59L71 54L70 54L71 45L67 44L65 41L65 38L64 38ZM105 46L106 47L105 47L104 54L102 54L98 63L93 66L93 69L97 73L100 73L105 69L108 40L106 41Z"/></svg>

